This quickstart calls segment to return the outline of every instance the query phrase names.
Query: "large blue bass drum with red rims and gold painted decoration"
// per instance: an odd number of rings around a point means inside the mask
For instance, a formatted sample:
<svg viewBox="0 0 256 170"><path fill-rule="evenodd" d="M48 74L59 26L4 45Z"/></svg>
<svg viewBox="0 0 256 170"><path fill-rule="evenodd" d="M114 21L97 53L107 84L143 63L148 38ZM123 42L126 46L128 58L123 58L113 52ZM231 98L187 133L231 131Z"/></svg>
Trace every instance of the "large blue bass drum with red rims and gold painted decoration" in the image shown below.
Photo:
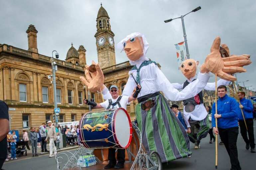
<svg viewBox="0 0 256 170"><path fill-rule="evenodd" d="M132 138L131 120L123 108L88 112L79 127L86 148L127 148Z"/></svg>

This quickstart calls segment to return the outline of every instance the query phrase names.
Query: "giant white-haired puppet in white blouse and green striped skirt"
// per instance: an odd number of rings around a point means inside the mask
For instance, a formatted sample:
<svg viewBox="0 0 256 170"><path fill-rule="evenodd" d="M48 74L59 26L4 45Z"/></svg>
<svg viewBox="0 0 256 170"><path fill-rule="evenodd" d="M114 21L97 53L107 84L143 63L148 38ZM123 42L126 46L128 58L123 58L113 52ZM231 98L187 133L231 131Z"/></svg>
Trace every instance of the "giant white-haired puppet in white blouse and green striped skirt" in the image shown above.
<svg viewBox="0 0 256 170"><path fill-rule="evenodd" d="M154 61L149 61L146 57L149 44L144 34L139 32L132 33L117 44L117 48L124 50L130 60L130 64L134 65L129 72L130 76L122 95L130 96L132 94L136 83L131 73L136 75L136 81L143 87L138 95L139 103L136 105L136 118L142 134L142 143L147 153L151 150L156 150L163 163L190 156L191 152L189 150L189 139L183 125L172 113L165 97L159 91L163 91L169 100L185 100L194 97L203 89L209 80L210 76L207 74L209 71L225 80L234 80L233 76L224 72L228 70L228 66L224 66L223 59L216 54L216 43L218 42L215 39L211 53L202 65L197 79L180 92L167 80L157 64ZM248 60L248 57L243 59ZM240 63L239 60L240 58L236 58L234 62ZM218 64L213 65L212 63L216 61L218 61ZM248 62L250 61L248 60ZM249 64L248 62L241 66ZM230 66L232 67L232 63ZM224 67L225 69L223 69ZM87 67L85 76L88 79L86 81L84 78L81 79L87 86L91 82L95 82L98 75L101 77L100 71L97 71L93 78L89 77L88 74ZM104 99L111 98L107 87L98 85L97 88L97 90L102 90Z"/></svg>

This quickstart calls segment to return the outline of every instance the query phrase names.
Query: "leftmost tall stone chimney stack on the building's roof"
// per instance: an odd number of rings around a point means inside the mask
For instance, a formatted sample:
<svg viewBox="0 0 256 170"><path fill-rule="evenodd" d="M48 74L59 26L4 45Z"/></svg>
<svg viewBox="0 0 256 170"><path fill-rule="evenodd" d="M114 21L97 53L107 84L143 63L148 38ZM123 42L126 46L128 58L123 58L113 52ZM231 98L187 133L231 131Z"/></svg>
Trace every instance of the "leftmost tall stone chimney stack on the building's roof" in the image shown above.
<svg viewBox="0 0 256 170"><path fill-rule="evenodd" d="M35 26L30 25L26 32L28 34L28 44L29 44L28 51L38 53L38 49L37 49L38 31L36 30Z"/></svg>

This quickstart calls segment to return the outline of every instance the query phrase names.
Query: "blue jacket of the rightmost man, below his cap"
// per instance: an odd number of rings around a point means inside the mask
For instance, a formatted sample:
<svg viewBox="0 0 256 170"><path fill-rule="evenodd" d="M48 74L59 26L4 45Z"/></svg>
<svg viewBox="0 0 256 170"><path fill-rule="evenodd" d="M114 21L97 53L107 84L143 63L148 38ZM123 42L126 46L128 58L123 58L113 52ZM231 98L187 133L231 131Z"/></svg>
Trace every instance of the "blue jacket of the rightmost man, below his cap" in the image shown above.
<svg viewBox="0 0 256 170"><path fill-rule="evenodd" d="M245 119L253 118L253 114L252 114L253 106L252 106L251 100L242 98L242 99L240 99L240 103L241 103L241 105L244 106L244 108L242 109L243 113L244 113L244 118ZM240 108L239 108L239 112L238 112L238 119L243 120L243 116L242 116L242 112L241 112Z"/></svg>

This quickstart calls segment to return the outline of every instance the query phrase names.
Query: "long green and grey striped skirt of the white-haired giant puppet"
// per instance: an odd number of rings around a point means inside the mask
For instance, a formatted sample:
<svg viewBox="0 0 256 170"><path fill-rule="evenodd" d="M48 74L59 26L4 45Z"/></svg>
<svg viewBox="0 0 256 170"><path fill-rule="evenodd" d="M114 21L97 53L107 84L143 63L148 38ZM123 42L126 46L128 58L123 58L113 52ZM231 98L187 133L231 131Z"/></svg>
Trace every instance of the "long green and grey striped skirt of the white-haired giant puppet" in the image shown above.
<svg viewBox="0 0 256 170"><path fill-rule="evenodd" d="M142 101L138 99L135 111L146 152L157 151L162 163L190 156L189 138L183 125L163 95L154 94ZM143 110L143 104L149 100L154 101L154 105L149 110Z"/></svg>

